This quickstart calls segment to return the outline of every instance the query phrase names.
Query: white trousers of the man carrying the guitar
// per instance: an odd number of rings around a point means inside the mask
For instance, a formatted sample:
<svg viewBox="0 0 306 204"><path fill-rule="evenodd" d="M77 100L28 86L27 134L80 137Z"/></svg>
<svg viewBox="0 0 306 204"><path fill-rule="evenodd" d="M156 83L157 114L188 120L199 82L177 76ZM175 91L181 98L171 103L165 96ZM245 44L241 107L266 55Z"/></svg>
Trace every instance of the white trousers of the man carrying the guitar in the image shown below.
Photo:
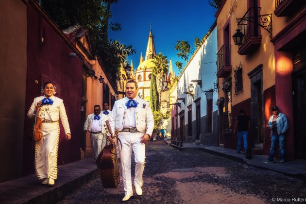
<svg viewBox="0 0 306 204"><path fill-rule="evenodd" d="M135 155L135 179L134 186L142 187L142 174L145 166L145 144L141 143L143 133L119 132L119 139L122 143L120 161L125 195L133 196L132 175L131 175L131 155L132 150Z"/></svg>

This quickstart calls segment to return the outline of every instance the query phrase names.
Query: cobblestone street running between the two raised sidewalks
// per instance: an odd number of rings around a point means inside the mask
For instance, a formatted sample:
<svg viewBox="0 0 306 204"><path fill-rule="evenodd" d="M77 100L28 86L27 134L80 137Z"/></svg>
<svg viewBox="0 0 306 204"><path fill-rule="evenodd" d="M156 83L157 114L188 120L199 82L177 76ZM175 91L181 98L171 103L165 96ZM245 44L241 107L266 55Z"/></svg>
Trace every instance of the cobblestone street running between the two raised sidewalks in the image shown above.
<svg viewBox="0 0 306 204"><path fill-rule="evenodd" d="M134 162L132 165L134 170ZM127 203L258 204L273 203L273 198L291 202L292 198L306 198L306 184L301 180L209 153L181 152L163 141L149 142L146 146L143 183L143 195L137 196L134 189L134 197ZM121 203L123 194L122 180L117 189L104 189L97 178L58 204Z"/></svg>

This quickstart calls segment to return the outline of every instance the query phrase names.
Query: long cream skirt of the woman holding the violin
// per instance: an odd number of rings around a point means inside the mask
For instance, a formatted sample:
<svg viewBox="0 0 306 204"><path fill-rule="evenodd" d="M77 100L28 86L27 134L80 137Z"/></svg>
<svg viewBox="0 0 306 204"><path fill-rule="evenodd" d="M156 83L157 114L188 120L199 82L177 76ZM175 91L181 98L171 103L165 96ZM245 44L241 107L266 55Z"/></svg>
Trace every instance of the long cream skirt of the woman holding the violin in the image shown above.
<svg viewBox="0 0 306 204"><path fill-rule="evenodd" d="M39 179L57 178L59 124L42 123L42 138L35 142L35 171Z"/></svg>

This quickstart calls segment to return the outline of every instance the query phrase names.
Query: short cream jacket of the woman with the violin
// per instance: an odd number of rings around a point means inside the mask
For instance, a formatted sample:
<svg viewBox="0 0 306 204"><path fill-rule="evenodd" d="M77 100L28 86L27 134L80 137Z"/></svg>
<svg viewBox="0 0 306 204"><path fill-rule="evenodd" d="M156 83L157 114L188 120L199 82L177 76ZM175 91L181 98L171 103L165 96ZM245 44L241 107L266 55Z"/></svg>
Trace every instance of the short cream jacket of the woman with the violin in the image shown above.
<svg viewBox="0 0 306 204"><path fill-rule="evenodd" d="M34 102L32 103L29 111L28 111L28 117L31 119L34 115L35 106L38 102L40 102L42 99L44 99L45 96L39 96L34 99ZM70 128L68 123L68 117L66 114L64 102L62 99L57 98L56 96L52 96L51 98L53 100L53 104L49 106L49 108L46 110L49 116L51 117L52 121L58 121L60 118L62 120L62 124L65 130L65 134L70 134Z"/></svg>

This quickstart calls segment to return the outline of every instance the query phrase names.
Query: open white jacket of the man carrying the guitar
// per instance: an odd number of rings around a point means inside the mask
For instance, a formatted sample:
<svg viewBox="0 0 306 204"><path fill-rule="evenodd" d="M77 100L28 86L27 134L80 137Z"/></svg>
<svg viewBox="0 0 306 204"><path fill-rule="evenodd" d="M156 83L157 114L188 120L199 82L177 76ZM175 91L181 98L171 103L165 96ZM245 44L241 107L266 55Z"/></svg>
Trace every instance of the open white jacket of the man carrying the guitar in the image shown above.
<svg viewBox="0 0 306 204"><path fill-rule="evenodd" d="M129 99L125 97L116 101L114 104L109 119L109 123L113 132L115 129L118 131L123 129L126 118L125 114L127 110L125 103L128 100ZM154 129L154 119L150 104L149 102L140 99L139 97L136 97L136 102L138 102L138 105L135 109L136 128L139 132L143 132L151 136Z"/></svg>

